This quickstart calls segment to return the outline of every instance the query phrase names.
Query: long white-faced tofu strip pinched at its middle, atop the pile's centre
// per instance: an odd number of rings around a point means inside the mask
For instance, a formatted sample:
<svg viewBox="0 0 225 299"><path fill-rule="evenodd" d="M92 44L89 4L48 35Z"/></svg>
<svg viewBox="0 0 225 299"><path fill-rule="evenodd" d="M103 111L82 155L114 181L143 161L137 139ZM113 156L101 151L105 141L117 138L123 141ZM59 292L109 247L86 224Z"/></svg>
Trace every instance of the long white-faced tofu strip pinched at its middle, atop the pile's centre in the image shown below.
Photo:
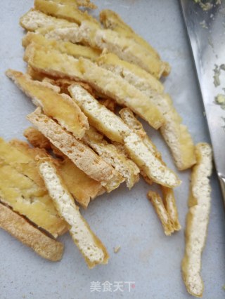
<svg viewBox="0 0 225 299"><path fill-rule="evenodd" d="M98 131L101 131L113 141L124 142L124 147L129 156L146 173L148 178L167 187L175 187L181 183L176 174L155 157L155 154L144 144L142 138L133 133L120 117L99 104L81 86L70 86L69 91L84 114L89 117L90 123Z"/></svg>

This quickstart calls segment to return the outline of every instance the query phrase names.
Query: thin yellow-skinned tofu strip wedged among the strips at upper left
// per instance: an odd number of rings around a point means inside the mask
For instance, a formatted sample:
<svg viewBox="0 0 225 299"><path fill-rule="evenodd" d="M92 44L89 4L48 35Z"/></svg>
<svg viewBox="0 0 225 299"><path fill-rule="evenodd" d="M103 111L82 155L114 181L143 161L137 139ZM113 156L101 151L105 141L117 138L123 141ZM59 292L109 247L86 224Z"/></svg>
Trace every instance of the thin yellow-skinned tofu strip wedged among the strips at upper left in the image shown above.
<svg viewBox="0 0 225 299"><path fill-rule="evenodd" d="M46 46L53 50L60 51L60 53L65 53L71 55L75 58L82 56L91 60L95 60L101 54L101 51L89 46L82 46L77 44L72 44L70 41L57 41L56 39L47 39L45 36L33 32L27 32L23 37L22 44L27 47L31 43L35 43L39 46Z"/></svg>

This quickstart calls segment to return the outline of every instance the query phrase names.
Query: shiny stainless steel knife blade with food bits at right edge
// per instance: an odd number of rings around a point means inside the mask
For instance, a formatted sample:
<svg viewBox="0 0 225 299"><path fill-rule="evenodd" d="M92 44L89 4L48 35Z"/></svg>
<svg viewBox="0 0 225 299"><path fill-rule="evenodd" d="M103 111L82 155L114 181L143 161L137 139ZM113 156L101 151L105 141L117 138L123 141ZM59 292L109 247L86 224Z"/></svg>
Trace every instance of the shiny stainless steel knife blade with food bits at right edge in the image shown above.
<svg viewBox="0 0 225 299"><path fill-rule="evenodd" d="M193 51L212 140L214 163L225 204L225 1L181 0L181 8ZM222 96L218 98L219 94Z"/></svg>

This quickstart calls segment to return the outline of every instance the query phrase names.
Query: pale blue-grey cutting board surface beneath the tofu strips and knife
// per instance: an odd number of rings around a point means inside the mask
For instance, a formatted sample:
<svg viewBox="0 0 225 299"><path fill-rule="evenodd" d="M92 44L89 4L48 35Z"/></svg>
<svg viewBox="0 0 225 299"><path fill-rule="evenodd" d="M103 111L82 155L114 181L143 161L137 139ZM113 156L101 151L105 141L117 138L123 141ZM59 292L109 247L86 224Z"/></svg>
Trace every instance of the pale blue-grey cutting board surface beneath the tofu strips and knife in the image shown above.
<svg viewBox="0 0 225 299"><path fill-rule="evenodd" d="M4 75L9 67L25 71L21 46L24 32L18 20L32 4L32 0L1 1L0 135L6 140L24 139L23 130L30 126L25 117L34 110L30 100ZM164 80L165 89L172 95L194 141L208 142L203 104L178 1L102 0L96 4L100 9L111 8L120 13L136 32L158 49L162 59L170 63L172 73ZM144 126L167 165L175 170L160 134ZM146 199L150 186L143 180L131 191L122 185L91 202L86 211L81 210L110 253L108 265L92 270L86 267L69 234L60 237L65 244L63 259L51 263L0 230L0 298L191 298L180 270L190 171L179 173L179 176L183 184L176 188L175 194L182 230L172 237L162 232L153 207ZM225 298L225 218L215 174L211 182L212 209L203 253L203 298L220 299ZM118 253L113 251L116 246L121 246ZM99 292L91 292L92 281L99 281ZM110 285L112 292L103 292L105 281L113 284ZM122 281L123 291L114 291L117 281ZM130 291L125 281L134 281Z"/></svg>

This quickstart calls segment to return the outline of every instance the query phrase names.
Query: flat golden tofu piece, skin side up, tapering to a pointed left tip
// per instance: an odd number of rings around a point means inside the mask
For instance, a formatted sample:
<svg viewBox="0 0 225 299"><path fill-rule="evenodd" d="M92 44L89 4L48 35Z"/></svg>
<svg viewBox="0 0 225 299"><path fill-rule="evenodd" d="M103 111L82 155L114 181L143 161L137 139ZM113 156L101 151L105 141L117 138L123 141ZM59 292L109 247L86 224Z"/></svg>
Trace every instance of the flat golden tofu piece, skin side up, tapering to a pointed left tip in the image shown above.
<svg viewBox="0 0 225 299"><path fill-rule="evenodd" d="M26 74L8 69L7 76L30 98L37 107L41 107L49 117L75 135L82 138L89 122L79 106L65 94L58 93L58 88L46 82L33 81ZM59 109L60 107L60 109Z"/></svg>

